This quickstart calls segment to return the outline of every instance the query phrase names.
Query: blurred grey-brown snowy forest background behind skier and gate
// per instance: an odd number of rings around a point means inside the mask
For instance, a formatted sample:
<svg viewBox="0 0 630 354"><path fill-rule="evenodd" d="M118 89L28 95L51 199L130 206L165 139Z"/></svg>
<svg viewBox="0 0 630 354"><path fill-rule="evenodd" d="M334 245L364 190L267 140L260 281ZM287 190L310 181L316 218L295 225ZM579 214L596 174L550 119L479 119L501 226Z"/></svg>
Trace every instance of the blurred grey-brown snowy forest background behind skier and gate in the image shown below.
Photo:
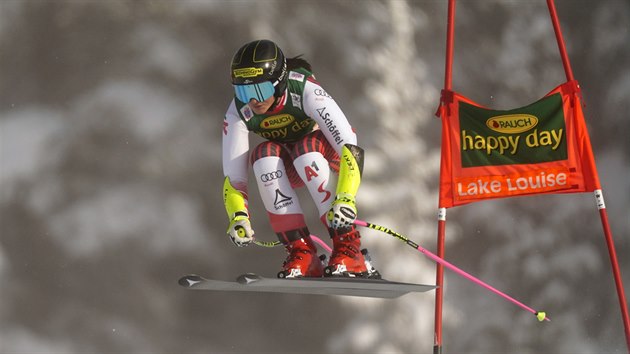
<svg viewBox="0 0 630 354"><path fill-rule="evenodd" d="M628 290L630 3L556 4ZM229 63L258 38L303 54L356 129L360 217L435 251L446 11L446 0L0 1L0 352L431 352L434 292L192 292L177 279L273 276L284 260L231 244L220 195ZM564 80L545 1L459 2L455 90L511 109ZM255 183L250 196L257 235L274 240ZM422 254L371 230L363 240L386 278L435 283ZM449 209L446 241L450 262L552 322L446 271L445 353L626 352L590 193Z"/></svg>

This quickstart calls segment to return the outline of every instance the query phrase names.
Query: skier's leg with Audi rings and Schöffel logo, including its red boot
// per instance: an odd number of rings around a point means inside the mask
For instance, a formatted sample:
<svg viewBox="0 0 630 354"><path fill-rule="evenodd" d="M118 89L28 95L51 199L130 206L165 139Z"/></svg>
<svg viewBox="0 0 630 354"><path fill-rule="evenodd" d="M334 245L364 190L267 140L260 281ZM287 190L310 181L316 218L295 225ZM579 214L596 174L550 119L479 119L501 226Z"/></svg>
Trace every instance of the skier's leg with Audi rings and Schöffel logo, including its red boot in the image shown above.
<svg viewBox="0 0 630 354"><path fill-rule="evenodd" d="M278 276L319 277L322 265L293 189L300 181L290 161L283 146L273 142L258 145L252 155L254 176L271 228L289 253ZM287 165L289 168L285 168Z"/></svg>

